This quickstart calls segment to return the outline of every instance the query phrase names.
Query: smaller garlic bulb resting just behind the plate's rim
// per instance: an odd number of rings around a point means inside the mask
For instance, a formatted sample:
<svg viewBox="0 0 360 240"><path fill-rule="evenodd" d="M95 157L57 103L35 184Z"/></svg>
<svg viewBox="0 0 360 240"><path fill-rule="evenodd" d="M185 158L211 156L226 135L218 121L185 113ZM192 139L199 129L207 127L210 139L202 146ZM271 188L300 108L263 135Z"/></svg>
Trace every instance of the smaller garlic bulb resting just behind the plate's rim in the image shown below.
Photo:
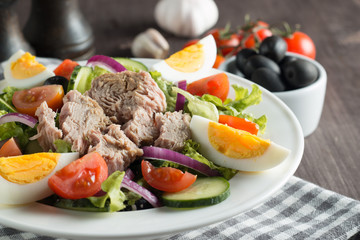
<svg viewBox="0 0 360 240"><path fill-rule="evenodd" d="M165 58L169 49L166 39L153 28L137 35L131 46L134 57L140 58Z"/></svg>

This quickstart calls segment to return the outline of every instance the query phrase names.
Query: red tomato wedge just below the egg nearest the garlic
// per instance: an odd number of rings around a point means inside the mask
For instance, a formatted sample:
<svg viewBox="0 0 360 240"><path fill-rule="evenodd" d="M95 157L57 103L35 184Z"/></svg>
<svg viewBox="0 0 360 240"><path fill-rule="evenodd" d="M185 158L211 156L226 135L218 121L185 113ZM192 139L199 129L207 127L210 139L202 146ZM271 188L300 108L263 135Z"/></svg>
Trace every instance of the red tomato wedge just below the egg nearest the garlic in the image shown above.
<svg viewBox="0 0 360 240"><path fill-rule="evenodd" d="M218 73L202 78L187 85L186 90L192 95L211 94L225 101L229 93L229 78L225 73Z"/></svg>

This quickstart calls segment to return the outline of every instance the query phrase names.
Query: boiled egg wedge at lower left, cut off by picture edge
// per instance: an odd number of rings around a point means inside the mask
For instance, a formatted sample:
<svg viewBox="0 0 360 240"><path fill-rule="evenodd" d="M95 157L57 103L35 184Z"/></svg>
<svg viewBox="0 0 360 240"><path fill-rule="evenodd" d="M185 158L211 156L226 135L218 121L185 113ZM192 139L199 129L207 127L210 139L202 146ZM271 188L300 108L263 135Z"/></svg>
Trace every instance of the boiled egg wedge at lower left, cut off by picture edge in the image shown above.
<svg viewBox="0 0 360 240"><path fill-rule="evenodd" d="M48 179L79 153L34 153L0 158L0 204L25 204L53 194Z"/></svg>

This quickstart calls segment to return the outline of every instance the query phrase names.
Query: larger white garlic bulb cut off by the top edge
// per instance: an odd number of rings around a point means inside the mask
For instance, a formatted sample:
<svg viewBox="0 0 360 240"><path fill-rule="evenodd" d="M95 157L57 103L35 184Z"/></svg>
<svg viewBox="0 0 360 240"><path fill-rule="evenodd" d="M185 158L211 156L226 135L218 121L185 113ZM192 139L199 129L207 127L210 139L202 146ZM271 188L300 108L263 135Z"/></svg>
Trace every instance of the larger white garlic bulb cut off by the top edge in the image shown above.
<svg viewBox="0 0 360 240"><path fill-rule="evenodd" d="M160 0L155 20L164 30L183 37L197 37L214 26L219 18L213 0Z"/></svg>

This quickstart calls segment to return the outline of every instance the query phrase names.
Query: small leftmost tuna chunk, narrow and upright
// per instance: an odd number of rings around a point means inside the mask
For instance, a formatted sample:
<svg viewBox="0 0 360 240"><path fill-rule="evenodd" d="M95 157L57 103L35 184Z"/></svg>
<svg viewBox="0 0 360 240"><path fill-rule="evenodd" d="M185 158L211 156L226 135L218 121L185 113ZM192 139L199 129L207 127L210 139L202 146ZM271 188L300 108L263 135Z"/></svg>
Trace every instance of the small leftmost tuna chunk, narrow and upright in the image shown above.
<svg viewBox="0 0 360 240"><path fill-rule="evenodd" d="M61 139L63 134L55 125L56 113L48 107L44 101L36 110L35 115L39 119L37 134L32 139L37 139L41 148L48 152L56 151L54 141Z"/></svg>

